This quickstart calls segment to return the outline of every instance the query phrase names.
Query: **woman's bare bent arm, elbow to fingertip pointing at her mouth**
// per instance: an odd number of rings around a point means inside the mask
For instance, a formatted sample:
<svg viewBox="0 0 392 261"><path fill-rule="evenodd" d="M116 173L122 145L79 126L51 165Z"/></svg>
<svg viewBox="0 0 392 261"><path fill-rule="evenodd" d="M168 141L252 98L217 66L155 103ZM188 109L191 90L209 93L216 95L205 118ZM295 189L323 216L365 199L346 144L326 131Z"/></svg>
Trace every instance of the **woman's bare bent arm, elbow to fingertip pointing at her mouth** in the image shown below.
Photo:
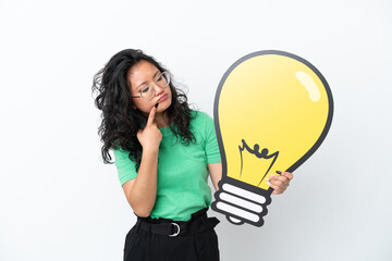
<svg viewBox="0 0 392 261"><path fill-rule="evenodd" d="M138 216L148 216L157 197L157 165L162 134L154 123L156 108L152 107L146 127L137 133L143 154L137 176L123 185L126 200Z"/></svg>

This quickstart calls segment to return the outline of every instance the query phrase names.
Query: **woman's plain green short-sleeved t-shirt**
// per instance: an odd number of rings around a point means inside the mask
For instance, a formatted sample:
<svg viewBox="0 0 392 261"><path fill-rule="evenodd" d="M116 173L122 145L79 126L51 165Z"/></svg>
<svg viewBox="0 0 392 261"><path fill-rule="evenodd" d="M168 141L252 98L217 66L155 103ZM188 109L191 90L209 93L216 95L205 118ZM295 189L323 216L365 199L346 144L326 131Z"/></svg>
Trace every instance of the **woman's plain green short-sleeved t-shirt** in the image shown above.
<svg viewBox="0 0 392 261"><path fill-rule="evenodd" d="M192 111L192 115L189 129L195 135L195 144L183 145L170 127L160 128L157 198L151 217L187 221L192 213L211 203L207 163L221 162L213 120L204 112ZM137 176L128 153L114 150L121 185Z"/></svg>

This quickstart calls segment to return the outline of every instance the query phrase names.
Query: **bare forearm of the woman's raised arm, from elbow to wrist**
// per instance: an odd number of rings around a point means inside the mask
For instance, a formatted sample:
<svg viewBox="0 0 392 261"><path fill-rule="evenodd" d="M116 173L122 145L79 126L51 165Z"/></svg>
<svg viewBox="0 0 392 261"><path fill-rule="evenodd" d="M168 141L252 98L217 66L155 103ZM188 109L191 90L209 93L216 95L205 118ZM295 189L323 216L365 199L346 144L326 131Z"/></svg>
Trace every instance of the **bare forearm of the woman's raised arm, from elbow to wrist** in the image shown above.
<svg viewBox="0 0 392 261"><path fill-rule="evenodd" d="M158 150L144 150L140 167L128 194L128 202L138 216L148 216L157 197Z"/></svg>

